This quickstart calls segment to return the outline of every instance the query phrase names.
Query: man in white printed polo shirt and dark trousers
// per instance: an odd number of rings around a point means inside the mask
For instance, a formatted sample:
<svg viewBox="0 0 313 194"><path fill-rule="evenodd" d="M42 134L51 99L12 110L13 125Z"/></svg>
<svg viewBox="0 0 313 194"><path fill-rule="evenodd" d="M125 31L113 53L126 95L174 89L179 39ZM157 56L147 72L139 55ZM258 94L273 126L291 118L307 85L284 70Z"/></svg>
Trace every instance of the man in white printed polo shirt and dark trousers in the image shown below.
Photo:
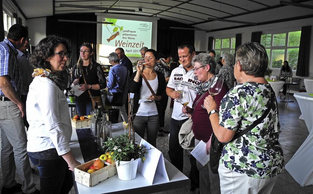
<svg viewBox="0 0 313 194"><path fill-rule="evenodd" d="M195 47L190 44L181 44L178 46L179 61L181 64L175 68L169 79L166 88L166 94L174 99L179 98L179 92L175 91L175 85L184 84L188 87L189 104L192 107L193 101L196 98L196 87L199 84L197 77L194 75L193 66L191 64L192 58L196 55ZM179 130L181 125L188 119L183 117L181 112L182 105L175 101L171 118L171 132L169 140L169 156L171 163L182 172L183 169L183 149L179 145Z"/></svg>

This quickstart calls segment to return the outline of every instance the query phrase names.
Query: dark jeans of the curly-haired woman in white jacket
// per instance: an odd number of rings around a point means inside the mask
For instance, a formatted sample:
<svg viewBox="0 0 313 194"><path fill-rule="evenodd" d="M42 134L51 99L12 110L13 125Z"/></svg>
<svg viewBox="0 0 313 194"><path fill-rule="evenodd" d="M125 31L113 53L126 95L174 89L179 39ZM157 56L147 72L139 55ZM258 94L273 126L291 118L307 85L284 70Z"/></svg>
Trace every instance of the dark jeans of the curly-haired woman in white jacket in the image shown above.
<svg viewBox="0 0 313 194"><path fill-rule="evenodd" d="M29 156L31 162L38 168L41 194L68 194L73 187L72 172L68 170L67 162L60 159L43 160Z"/></svg>

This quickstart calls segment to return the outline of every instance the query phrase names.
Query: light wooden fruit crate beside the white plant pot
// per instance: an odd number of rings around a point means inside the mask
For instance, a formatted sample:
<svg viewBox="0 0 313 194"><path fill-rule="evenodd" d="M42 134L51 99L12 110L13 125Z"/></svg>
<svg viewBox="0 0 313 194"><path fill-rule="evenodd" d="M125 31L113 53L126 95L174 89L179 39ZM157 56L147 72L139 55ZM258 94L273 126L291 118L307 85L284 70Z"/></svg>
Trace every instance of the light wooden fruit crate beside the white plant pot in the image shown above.
<svg viewBox="0 0 313 194"><path fill-rule="evenodd" d="M98 158L96 158L98 159ZM108 162L104 162L104 167L89 174L87 173L87 170L89 169L89 166L93 164L93 162L96 160L90 160L89 162L86 162L84 164L81 164L77 166L74 169L75 174L75 181L79 182L83 185L86 185L88 187L93 187L96 184L114 176L117 174L116 171L116 165L115 163L110 164Z"/></svg>

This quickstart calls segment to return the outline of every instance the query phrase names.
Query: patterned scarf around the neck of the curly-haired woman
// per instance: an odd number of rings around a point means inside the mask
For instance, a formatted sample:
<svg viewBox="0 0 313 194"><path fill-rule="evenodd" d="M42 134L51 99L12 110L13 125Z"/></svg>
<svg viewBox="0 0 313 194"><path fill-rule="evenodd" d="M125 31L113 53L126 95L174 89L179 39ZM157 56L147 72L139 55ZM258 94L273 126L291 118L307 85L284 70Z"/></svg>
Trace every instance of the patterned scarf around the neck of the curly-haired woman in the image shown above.
<svg viewBox="0 0 313 194"><path fill-rule="evenodd" d="M51 72L49 69L43 69L43 68L36 68L34 69L34 72L31 74L33 78L36 76L49 78L51 79L57 86L63 91L66 89L66 83L64 81L64 78L61 76L61 73L54 73Z"/></svg>

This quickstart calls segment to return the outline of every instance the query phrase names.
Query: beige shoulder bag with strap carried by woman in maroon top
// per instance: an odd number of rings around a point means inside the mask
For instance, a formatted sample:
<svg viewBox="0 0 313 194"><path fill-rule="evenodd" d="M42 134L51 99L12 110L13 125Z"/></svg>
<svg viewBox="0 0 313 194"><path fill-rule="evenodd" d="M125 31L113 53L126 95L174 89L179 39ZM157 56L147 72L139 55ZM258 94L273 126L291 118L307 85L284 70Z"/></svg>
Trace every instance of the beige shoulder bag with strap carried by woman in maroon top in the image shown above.
<svg viewBox="0 0 313 194"><path fill-rule="evenodd" d="M206 91L207 92L207 91ZM205 92L205 93L206 93ZM203 93L201 97L197 100L193 107L196 107L201 98L205 95ZM186 122L184 122L179 130L178 134L179 144L185 150L192 150L195 148L195 137L192 131L192 117L190 117Z"/></svg>

